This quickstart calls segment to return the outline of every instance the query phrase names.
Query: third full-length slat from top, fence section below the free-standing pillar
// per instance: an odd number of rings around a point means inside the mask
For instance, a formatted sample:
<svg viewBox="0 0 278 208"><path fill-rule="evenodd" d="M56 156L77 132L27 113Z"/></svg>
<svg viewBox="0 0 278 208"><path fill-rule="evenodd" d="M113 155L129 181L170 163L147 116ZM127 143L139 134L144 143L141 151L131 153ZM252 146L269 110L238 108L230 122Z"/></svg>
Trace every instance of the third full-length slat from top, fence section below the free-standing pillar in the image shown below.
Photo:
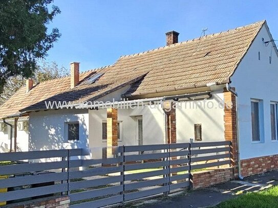
<svg viewBox="0 0 278 208"><path fill-rule="evenodd" d="M110 183L116 183L121 181L123 181L123 175L106 177L106 178L98 178L93 180L69 182L69 190L105 186Z"/></svg>

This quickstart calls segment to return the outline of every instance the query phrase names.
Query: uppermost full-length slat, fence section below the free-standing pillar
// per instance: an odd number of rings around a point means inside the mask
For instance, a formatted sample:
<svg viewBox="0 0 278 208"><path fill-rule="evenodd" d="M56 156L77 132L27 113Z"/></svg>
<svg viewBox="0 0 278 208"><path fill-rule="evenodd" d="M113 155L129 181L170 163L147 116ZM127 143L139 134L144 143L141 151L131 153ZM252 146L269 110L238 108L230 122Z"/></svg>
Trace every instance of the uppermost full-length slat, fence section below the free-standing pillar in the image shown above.
<svg viewBox="0 0 278 208"><path fill-rule="evenodd" d="M111 165L121 163L123 156L115 158L103 158L103 159L76 159L70 160L70 168L74 167L87 167L96 164Z"/></svg>

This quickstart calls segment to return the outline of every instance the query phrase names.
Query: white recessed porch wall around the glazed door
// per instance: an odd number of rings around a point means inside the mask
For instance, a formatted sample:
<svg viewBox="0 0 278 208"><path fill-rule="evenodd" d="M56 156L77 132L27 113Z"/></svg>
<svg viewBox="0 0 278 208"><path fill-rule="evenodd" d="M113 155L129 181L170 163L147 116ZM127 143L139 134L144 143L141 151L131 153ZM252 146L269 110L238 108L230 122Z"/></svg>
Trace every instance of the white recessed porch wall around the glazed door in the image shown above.
<svg viewBox="0 0 278 208"><path fill-rule="evenodd" d="M143 118L143 145L164 144L164 115L162 108L144 106L136 109L118 109L118 121L121 122L123 133L118 145L136 145L136 120L137 116ZM102 122L106 121L106 109L89 110L89 145L93 157L102 156Z"/></svg>

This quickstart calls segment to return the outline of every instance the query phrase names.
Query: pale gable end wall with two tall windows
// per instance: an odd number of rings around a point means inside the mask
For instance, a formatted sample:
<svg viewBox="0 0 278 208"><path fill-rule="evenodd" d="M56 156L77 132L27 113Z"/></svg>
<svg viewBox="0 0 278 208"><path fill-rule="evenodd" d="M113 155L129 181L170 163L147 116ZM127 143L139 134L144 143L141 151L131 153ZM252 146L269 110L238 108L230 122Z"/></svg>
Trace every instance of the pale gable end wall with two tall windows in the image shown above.
<svg viewBox="0 0 278 208"><path fill-rule="evenodd" d="M239 94L239 137L241 159L278 154L278 142L271 141L270 101L278 102L277 78L278 58L270 40L266 27L263 27L252 43L249 51L231 78L231 86L236 87ZM260 52L261 60L258 58ZM272 54L272 62L269 56ZM263 100L262 143L252 143L250 99Z"/></svg>

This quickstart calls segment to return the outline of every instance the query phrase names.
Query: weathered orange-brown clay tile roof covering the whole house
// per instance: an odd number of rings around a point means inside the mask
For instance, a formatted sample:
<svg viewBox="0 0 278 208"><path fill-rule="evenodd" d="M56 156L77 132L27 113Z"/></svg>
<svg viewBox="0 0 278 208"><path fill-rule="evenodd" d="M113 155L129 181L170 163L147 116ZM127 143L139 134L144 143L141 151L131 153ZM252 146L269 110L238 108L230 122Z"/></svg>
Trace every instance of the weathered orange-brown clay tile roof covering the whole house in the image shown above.
<svg viewBox="0 0 278 208"><path fill-rule="evenodd" d="M98 81L87 82L95 71L80 74L83 81L70 89L70 78L42 82L25 93L21 88L0 107L0 118L19 110L45 108L45 101L93 100L131 84L126 96L227 83L265 21L234 30L122 56ZM87 78L86 78L87 77Z"/></svg>

